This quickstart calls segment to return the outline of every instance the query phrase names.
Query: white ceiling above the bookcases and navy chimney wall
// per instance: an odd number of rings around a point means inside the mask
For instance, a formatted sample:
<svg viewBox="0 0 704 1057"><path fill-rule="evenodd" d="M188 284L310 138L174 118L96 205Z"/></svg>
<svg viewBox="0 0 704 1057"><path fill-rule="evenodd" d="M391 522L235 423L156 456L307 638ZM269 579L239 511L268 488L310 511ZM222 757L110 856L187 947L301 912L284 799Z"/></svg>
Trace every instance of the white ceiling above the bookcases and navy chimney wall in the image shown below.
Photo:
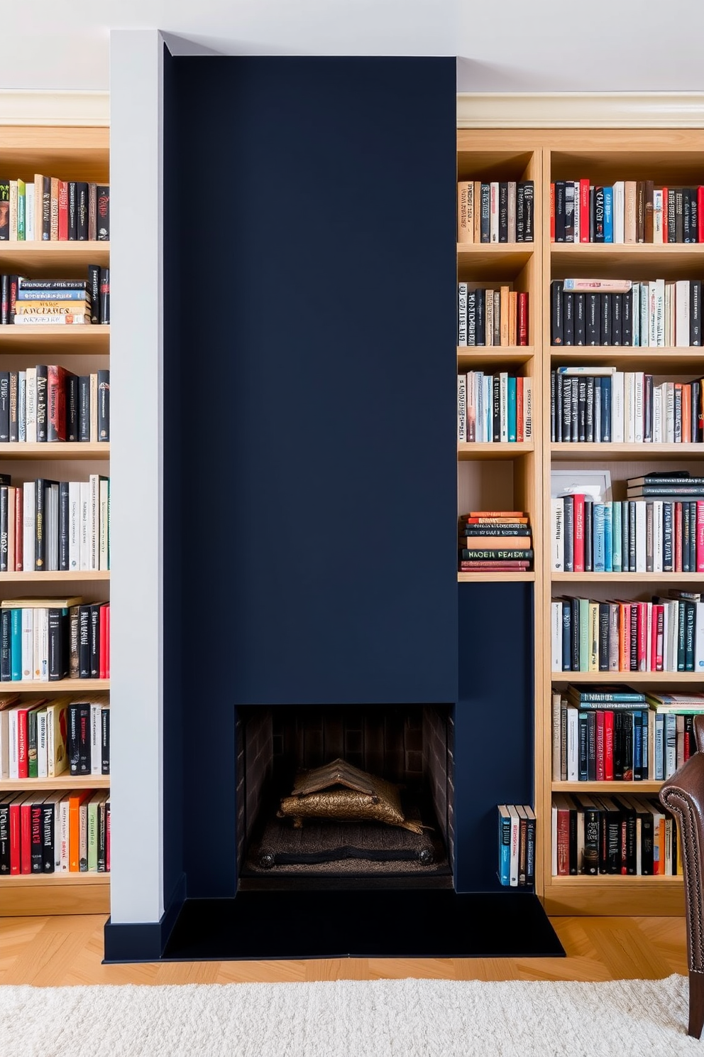
<svg viewBox="0 0 704 1057"><path fill-rule="evenodd" d="M2 2L2 0L0 0ZM701 91L701 0L17 0L0 89L107 89L110 29L227 55L458 55L460 91Z"/></svg>

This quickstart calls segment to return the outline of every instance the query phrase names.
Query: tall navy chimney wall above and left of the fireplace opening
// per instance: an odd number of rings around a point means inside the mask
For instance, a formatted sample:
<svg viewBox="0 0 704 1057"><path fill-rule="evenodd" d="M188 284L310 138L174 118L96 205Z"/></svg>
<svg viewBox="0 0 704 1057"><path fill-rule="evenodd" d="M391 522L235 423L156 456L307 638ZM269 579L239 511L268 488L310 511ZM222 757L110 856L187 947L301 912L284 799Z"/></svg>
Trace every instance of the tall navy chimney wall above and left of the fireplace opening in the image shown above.
<svg viewBox="0 0 704 1057"><path fill-rule="evenodd" d="M171 67L165 660L227 895L233 706L457 699L455 60Z"/></svg>

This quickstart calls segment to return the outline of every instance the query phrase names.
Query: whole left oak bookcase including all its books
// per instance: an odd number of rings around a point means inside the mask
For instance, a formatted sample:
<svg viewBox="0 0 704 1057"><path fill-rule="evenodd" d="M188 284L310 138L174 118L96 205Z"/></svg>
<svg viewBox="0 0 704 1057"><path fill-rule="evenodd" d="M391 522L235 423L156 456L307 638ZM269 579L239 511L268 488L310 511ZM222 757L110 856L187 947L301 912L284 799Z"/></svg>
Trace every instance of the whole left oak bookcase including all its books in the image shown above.
<svg viewBox="0 0 704 1057"><path fill-rule="evenodd" d="M104 913L109 130L0 154L0 913Z"/></svg>

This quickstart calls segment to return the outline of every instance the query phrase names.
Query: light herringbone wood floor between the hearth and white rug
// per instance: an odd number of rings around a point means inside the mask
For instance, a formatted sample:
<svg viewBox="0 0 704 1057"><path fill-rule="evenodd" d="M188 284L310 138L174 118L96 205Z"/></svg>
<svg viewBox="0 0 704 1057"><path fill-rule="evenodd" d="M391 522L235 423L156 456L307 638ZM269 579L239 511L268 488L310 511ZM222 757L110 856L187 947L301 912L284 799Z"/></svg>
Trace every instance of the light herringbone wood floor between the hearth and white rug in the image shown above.
<svg viewBox="0 0 704 1057"><path fill-rule="evenodd" d="M0 984L186 984L294 980L616 980L686 973L683 917L554 917L567 958L335 959L101 965L102 915L0 919Z"/></svg>

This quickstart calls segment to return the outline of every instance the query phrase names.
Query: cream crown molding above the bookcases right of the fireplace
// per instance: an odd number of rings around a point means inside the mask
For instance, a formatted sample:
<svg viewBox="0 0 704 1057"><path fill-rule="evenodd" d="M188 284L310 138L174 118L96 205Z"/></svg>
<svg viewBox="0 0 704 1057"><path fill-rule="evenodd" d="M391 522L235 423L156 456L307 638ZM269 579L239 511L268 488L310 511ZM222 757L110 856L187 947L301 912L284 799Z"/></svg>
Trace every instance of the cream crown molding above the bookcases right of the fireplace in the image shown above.
<svg viewBox="0 0 704 1057"><path fill-rule="evenodd" d="M463 129L704 128L704 92L459 92Z"/></svg>

